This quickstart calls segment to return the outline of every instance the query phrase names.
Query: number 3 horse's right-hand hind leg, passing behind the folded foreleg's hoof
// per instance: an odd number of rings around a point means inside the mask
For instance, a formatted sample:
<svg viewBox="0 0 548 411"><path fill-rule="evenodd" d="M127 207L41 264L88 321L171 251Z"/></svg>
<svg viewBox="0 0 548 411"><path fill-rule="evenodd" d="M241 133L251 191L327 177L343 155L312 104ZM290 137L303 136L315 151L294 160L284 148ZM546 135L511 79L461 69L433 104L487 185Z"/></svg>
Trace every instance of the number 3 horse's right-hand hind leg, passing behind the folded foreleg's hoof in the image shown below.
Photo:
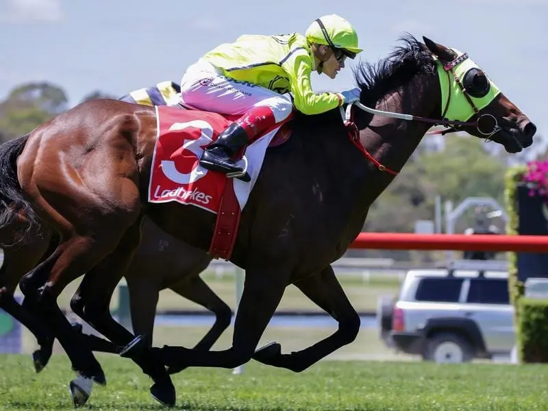
<svg viewBox="0 0 548 411"><path fill-rule="evenodd" d="M116 249L84 275L78 297L71 301L71 307L84 321L120 346L131 342L134 335L114 321L110 314L110 299L140 243L141 223L142 219L139 219L129 227ZM105 272L110 275L102 275ZM154 380L155 384L151 387L153 397L173 406L175 387L164 366L155 362L149 353L132 356L132 360Z"/></svg>

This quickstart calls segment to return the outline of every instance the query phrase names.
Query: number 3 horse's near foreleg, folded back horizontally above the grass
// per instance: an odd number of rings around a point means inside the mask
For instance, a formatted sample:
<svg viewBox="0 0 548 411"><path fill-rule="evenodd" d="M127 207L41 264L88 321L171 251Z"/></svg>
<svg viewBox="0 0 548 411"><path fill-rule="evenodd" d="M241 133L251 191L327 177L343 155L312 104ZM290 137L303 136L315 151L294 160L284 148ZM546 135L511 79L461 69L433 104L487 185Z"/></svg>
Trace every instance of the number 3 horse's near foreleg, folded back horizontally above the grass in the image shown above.
<svg viewBox="0 0 548 411"><path fill-rule="evenodd" d="M202 351L185 347L151 348L167 366L212 366L233 369L248 362L279 304L290 275L285 267L247 269L244 290L234 322L232 347L221 351ZM122 352L127 356L134 349L147 349L137 338Z"/></svg>

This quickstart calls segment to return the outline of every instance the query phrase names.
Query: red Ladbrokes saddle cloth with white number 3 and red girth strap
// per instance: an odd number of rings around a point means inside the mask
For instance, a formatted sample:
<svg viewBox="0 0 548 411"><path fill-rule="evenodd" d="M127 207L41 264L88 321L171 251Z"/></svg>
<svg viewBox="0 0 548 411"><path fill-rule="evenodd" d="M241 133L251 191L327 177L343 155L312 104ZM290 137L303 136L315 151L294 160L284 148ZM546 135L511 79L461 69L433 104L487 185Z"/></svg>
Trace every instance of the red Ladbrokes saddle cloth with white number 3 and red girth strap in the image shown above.
<svg viewBox="0 0 548 411"><path fill-rule="evenodd" d="M286 142L288 121L278 123L243 149L250 182L228 178L198 164L208 147L238 116L155 106L158 132L152 158L148 200L177 201L217 215L209 253L229 260L238 233L240 214L257 181L268 147ZM242 153L238 153L242 155Z"/></svg>

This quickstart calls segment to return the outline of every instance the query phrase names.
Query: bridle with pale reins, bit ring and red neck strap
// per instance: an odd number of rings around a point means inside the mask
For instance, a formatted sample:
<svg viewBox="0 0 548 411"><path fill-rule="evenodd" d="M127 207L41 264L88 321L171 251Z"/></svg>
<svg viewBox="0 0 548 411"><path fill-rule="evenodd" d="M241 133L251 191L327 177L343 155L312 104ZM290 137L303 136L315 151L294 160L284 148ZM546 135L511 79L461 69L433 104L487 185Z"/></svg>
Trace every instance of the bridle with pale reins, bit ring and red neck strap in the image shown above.
<svg viewBox="0 0 548 411"><path fill-rule="evenodd" d="M343 111L342 107L340 108L341 115L343 116L343 119L345 121L345 126L347 127L349 131L349 136L352 142L358 147L358 149L360 149L360 151L362 151L362 153L366 156L366 158L370 162L372 162L377 167L377 169L379 169L379 171L384 171L392 175L399 174L397 171L390 170L386 166L379 163L375 158L373 158L373 155L371 155L371 153L369 153L368 151L366 151L366 149L364 149L364 147L362 147L359 141L360 132L358 130L358 126L356 126L356 123L353 122L353 114L352 114L353 106L356 106L360 108L361 110L364 110L364 112L368 112L373 115L386 116L386 117L391 117L393 119L400 119L405 121L421 121L422 123L431 123L432 126L443 125L447 127L447 129L444 129L444 130L427 132L426 134L444 135L448 133L460 132L462 131L460 129L461 127L475 127L477 131L479 132L479 134L482 134L483 136L485 136L484 138L486 140L492 140L493 136L502 129L502 127L499 126L499 122L497 121L495 116L493 116L492 114L479 114L479 110L477 109L477 106L468 95L468 92L466 92L466 88L464 88L464 86L462 85L461 79L453 71L453 68L455 66L457 66L461 62L464 62L464 60L466 60L467 58L469 58L468 53L462 53L455 60L443 65L443 69L445 73L447 74L447 79L448 79L447 84L449 84L449 92L447 93L447 96L448 96L447 103L445 104L445 108L441 116L442 119L438 119L438 120L428 119L427 117L413 116L411 114L401 114L401 113L386 112L382 110L375 110L374 108L367 107L366 105L360 103L359 101L349 103L349 105L347 105L346 111ZM451 93L451 75L453 76L453 79L455 80L456 84L458 84L458 86L462 90L462 94L466 98L466 101L471 105L472 110L477 115L477 119L475 121L459 121L459 120L445 119L445 114L447 114L447 110L449 109L449 104L451 103L451 94L452 94ZM486 128L482 125L482 120L487 120L493 124L491 127L488 128L489 129L488 132L483 131Z"/></svg>

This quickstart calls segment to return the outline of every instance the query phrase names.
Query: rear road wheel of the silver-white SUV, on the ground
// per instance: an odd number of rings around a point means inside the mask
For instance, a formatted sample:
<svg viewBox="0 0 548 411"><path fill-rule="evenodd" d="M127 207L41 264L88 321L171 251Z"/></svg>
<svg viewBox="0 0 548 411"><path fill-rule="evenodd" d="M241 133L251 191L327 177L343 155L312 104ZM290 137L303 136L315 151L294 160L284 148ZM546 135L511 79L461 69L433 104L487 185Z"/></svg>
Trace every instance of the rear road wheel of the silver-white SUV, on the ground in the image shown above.
<svg viewBox="0 0 548 411"><path fill-rule="evenodd" d="M457 334L434 334L428 338L423 358L436 363L460 363L472 360L469 343Z"/></svg>

